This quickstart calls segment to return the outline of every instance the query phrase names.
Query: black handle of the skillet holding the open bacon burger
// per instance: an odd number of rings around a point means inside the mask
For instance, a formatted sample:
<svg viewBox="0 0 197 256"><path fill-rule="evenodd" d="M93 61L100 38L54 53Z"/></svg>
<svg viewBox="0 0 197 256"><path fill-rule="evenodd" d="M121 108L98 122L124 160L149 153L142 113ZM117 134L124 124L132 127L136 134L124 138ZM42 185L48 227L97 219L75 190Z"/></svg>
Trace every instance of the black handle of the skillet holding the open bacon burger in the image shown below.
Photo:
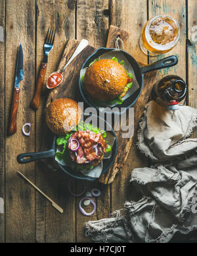
<svg viewBox="0 0 197 256"><path fill-rule="evenodd" d="M54 149L51 149L49 151L44 151L44 152L19 154L17 156L17 161L19 164L28 164L30 162L34 162L37 160L50 158L50 157L55 157Z"/></svg>

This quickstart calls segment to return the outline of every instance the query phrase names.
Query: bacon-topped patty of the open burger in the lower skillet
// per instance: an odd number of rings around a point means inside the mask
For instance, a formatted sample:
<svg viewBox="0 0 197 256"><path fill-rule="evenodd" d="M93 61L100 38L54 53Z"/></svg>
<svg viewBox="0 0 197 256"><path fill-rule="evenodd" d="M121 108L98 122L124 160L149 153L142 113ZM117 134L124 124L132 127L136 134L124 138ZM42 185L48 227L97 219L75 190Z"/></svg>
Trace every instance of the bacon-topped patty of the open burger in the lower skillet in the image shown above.
<svg viewBox="0 0 197 256"><path fill-rule="evenodd" d="M76 139L79 141L79 149L74 152L71 150L71 144L68 144L70 149L70 158L77 164L91 164L97 163L102 159L106 152L106 142L101 133L94 133L93 131L77 131L70 140Z"/></svg>

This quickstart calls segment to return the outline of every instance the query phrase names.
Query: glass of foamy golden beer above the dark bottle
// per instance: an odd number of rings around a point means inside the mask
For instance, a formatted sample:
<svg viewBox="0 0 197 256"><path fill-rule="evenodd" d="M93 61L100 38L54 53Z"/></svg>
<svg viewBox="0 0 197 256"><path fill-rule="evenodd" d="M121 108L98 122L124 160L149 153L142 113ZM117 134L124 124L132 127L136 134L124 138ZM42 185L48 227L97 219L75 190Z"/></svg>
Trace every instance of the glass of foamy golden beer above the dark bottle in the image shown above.
<svg viewBox="0 0 197 256"><path fill-rule="evenodd" d="M140 47L150 56L167 53L179 41L180 28L176 20L167 15L151 18L142 29Z"/></svg>

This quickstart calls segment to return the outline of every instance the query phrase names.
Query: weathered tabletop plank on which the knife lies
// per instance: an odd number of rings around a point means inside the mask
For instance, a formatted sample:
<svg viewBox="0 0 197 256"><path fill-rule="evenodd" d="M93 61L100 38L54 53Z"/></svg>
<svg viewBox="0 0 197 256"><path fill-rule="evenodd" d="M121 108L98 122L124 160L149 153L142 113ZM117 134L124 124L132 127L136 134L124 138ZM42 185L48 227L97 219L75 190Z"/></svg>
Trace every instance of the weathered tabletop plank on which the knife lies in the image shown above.
<svg viewBox="0 0 197 256"><path fill-rule="evenodd" d="M35 1L6 1L6 61L5 61L5 124L6 131L11 110L11 98L15 80L16 56L19 44L24 51L24 80L20 83L18 108L18 131L5 141L5 241L35 241L35 191L24 182L16 171L20 170L34 181L34 164L26 166L16 162L22 152L34 150L34 125L30 137L22 135L24 123L34 123L34 112L30 110L35 74Z"/></svg>

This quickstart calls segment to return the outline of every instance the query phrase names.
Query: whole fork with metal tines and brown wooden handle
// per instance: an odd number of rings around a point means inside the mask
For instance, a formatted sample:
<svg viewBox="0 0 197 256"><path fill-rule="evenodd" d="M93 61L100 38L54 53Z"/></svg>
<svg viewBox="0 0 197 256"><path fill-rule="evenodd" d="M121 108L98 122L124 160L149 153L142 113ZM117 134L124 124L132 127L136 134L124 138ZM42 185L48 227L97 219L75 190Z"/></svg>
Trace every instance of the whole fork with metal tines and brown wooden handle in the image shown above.
<svg viewBox="0 0 197 256"><path fill-rule="evenodd" d="M43 89L43 84L45 82L45 74L47 71L48 56L49 56L50 51L53 49L53 44L55 41L55 34L56 34L56 30L54 30L53 28L49 28L49 30L47 32L46 39L45 39L45 44L44 44L45 56L44 56L43 62L41 63L41 67L39 70L39 76L37 79L37 85L35 88L35 94L33 96L32 102L31 102L31 106L34 110L37 110L39 108L41 92Z"/></svg>

